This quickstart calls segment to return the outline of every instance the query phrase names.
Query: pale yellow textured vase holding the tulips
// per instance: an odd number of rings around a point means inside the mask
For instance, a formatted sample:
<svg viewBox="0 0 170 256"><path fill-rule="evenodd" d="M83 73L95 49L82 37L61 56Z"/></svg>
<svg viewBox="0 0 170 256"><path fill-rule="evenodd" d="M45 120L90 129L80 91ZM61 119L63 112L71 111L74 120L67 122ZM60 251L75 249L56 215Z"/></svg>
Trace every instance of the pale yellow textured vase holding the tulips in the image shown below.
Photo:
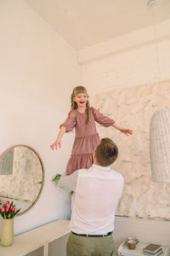
<svg viewBox="0 0 170 256"><path fill-rule="evenodd" d="M3 218L3 228L1 234L1 245L9 247L14 242L14 218Z"/></svg>

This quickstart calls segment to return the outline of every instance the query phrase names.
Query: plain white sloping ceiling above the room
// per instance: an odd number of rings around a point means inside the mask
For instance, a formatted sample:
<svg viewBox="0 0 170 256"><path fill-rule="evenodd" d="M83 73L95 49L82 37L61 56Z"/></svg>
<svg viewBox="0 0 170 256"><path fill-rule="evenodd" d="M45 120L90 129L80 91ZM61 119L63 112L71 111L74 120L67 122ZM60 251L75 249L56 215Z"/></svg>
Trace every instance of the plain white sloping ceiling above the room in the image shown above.
<svg viewBox="0 0 170 256"><path fill-rule="evenodd" d="M75 49L170 19L170 0L152 1L148 7L148 0L26 0Z"/></svg>

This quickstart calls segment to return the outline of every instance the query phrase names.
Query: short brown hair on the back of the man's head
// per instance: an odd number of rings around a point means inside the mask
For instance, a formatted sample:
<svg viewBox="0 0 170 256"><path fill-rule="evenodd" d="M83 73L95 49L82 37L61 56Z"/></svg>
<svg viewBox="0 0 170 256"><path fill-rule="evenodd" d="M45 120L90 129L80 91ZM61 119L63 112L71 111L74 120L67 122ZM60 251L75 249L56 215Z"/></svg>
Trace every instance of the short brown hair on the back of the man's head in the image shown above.
<svg viewBox="0 0 170 256"><path fill-rule="evenodd" d="M109 137L102 138L95 149L96 160L100 166L111 166L118 156L118 148Z"/></svg>

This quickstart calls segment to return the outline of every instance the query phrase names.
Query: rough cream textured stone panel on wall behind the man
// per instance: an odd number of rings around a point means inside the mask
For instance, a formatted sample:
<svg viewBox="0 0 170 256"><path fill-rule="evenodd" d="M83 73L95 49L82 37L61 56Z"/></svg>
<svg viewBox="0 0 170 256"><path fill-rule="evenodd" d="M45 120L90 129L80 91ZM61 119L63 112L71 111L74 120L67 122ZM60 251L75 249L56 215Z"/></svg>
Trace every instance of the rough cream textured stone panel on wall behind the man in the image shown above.
<svg viewBox="0 0 170 256"><path fill-rule="evenodd" d="M154 183L150 171L150 119L157 110L170 108L170 81L99 93L94 108L133 130L126 137L116 129L97 125L100 137L111 137L119 148L112 166L125 178L117 215L170 219L170 184Z"/></svg>

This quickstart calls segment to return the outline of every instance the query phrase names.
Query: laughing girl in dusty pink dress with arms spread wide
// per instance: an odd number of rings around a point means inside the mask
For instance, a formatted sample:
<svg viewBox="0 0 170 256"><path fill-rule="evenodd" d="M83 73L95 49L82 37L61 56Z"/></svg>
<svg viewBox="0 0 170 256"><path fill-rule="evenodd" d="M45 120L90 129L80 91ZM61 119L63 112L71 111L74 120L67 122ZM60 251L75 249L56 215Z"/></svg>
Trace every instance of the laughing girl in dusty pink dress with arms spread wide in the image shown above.
<svg viewBox="0 0 170 256"><path fill-rule="evenodd" d="M71 94L71 111L65 122L59 126L59 135L50 146L53 150L54 148L57 149L58 145L60 148L61 137L65 132L72 131L75 128L76 137L72 147L71 158L66 166L66 175L92 166L94 148L99 143L95 121L105 127L113 126L127 136L133 134L133 131L117 125L113 119L99 113L97 109L90 108L86 88L77 86Z"/></svg>

